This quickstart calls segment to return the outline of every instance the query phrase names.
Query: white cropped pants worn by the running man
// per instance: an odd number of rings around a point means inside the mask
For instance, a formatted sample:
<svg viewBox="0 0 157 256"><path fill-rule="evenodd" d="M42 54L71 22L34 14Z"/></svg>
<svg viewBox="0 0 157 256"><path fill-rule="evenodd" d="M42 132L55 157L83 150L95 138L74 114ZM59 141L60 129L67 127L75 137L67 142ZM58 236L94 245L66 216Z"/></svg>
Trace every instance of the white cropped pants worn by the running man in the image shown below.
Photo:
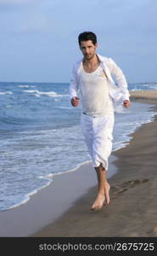
<svg viewBox="0 0 157 256"><path fill-rule="evenodd" d="M93 167L98 167L102 164L104 169L108 170L108 158L112 151L114 122L114 114L94 118L81 113L81 130L93 160Z"/></svg>

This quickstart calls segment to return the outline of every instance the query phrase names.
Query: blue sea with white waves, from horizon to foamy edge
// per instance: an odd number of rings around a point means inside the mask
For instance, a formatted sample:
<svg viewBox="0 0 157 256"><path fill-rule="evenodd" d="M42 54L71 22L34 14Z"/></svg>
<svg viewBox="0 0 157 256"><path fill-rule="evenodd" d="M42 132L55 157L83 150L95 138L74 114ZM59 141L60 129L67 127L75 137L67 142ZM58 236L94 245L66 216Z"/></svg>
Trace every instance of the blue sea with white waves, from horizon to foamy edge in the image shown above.
<svg viewBox="0 0 157 256"><path fill-rule="evenodd" d="M128 84L157 90L157 83ZM113 151L154 120L153 104L132 102L115 113ZM81 107L70 105L67 83L0 83L0 211L18 207L54 175L90 162L81 133Z"/></svg>

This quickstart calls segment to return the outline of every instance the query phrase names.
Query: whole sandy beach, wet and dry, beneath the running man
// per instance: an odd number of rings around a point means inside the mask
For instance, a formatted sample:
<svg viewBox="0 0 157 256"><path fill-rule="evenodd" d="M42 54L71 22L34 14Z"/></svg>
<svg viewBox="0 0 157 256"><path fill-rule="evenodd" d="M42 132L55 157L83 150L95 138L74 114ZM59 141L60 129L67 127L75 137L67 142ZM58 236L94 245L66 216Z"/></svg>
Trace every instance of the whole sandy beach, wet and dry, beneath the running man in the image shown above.
<svg viewBox="0 0 157 256"><path fill-rule="evenodd" d="M147 95L147 96L146 96ZM132 102L156 104L157 96L132 92ZM154 95L154 92L153 92ZM154 105L154 111L156 111ZM53 177L53 183L20 207L0 212L0 236L157 236L157 119L131 134L109 158L110 203L92 212L97 193L91 163Z"/></svg>

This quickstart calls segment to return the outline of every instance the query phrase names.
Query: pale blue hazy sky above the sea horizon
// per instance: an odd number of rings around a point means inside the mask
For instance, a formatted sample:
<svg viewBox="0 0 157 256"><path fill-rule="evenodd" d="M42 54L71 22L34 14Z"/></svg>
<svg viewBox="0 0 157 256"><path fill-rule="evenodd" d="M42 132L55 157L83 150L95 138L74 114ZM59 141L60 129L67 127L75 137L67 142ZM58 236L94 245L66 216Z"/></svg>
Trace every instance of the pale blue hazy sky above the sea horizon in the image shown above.
<svg viewBox="0 0 157 256"><path fill-rule="evenodd" d="M69 83L85 31L128 83L157 82L156 0L0 0L0 81Z"/></svg>

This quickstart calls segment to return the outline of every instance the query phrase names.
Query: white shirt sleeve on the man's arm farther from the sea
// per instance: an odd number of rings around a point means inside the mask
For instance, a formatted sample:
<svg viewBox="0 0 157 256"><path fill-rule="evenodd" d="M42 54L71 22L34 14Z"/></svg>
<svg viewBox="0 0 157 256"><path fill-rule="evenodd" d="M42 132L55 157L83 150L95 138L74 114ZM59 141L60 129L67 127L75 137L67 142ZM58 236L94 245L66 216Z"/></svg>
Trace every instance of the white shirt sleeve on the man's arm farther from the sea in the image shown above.
<svg viewBox="0 0 157 256"><path fill-rule="evenodd" d="M123 100L129 101L129 90L127 89L127 82L124 74L121 71L121 68L115 64L111 58L109 58L109 70L111 75L115 77L118 87L121 89L121 93L123 94Z"/></svg>

